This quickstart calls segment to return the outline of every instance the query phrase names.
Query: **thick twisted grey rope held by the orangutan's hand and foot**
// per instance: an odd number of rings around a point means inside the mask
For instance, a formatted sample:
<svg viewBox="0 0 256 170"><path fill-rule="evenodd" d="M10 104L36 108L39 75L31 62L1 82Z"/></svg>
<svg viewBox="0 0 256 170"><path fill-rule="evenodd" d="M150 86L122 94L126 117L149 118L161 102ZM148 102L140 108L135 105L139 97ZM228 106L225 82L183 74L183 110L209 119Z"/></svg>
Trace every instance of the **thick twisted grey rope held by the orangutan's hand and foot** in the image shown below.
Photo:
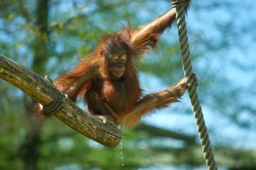
<svg viewBox="0 0 256 170"><path fill-rule="evenodd" d="M186 80L188 81L188 92L191 100L195 122L198 130L198 134L200 136L200 141L202 145L202 149L204 152L205 162L208 166L209 170L217 169L216 163L214 160L214 155L211 148L211 142L209 139L209 135L207 132L207 128L204 122L204 116L202 113L202 108L200 101L198 99L198 94L196 91L195 85L192 83L191 75L192 64L189 54L189 45L188 45L188 36L186 29L186 20L185 20L185 10L184 5L188 5L189 1L184 0L172 0L173 8L176 10L176 20L179 29L179 41L180 41L180 50L182 53L182 64L184 69L184 75Z"/></svg>

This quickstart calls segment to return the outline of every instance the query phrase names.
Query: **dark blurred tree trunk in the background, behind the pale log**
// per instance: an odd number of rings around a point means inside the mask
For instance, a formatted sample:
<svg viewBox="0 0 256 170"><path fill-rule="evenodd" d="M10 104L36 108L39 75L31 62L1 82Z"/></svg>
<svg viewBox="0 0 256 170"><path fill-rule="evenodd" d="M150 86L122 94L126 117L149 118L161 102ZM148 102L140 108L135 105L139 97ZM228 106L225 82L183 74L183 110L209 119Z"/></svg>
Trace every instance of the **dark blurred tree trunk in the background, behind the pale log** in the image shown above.
<svg viewBox="0 0 256 170"><path fill-rule="evenodd" d="M48 55L47 43L49 41L48 27L48 0L38 0L36 7L36 25L34 29L34 60L31 66L32 70L36 73L44 74L45 72L45 62ZM33 106L35 106L35 101L33 101L27 95L24 95L24 105L26 113L28 115L28 129L24 143L22 144L22 160L24 163L24 169L36 170L38 169L38 160L40 159L40 147L41 140L40 134L42 131L42 122L35 122L32 119L31 113L33 113Z"/></svg>

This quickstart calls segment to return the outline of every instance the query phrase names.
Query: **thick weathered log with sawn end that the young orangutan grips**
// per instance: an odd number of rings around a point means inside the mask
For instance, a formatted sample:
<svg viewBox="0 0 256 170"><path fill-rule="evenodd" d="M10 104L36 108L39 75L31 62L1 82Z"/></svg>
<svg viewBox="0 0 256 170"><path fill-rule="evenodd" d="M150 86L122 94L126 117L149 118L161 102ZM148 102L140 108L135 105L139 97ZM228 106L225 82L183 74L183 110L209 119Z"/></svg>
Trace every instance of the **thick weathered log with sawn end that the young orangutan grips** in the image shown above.
<svg viewBox="0 0 256 170"><path fill-rule="evenodd" d="M120 143L122 132L118 128L103 124L93 118L70 101L65 94L58 91L49 80L45 80L33 71L20 66L17 62L1 54L0 78L24 91L42 105L49 104L54 99L62 99L64 109L55 115L62 122L88 138L110 148L114 148Z"/></svg>

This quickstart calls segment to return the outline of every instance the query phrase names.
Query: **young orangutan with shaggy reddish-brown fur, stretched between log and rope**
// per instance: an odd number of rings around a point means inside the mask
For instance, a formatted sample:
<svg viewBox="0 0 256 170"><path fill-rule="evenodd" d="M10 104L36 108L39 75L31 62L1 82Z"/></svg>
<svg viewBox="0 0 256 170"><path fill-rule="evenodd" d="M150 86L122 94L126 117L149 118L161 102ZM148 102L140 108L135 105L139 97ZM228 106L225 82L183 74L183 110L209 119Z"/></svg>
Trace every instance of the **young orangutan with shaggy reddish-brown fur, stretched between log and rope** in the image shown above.
<svg viewBox="0 0 256 170"><path fill-rule="evenodd" d="M90 113L104 123L136 125L149 111L177 101L187 88L183 78L162 92L142 96L133 64L133 60L156 46L160 34L170 27L174 18L172 9L138 29L129 25L121 32L102 36L94 55L57 78L54 86L74 103L77 96L83 96ZM195 74L193 78L196 85ZM52 101L47 106L38 104L36 108L38 115L46 116L62 110L61 101Z"/></svg>

